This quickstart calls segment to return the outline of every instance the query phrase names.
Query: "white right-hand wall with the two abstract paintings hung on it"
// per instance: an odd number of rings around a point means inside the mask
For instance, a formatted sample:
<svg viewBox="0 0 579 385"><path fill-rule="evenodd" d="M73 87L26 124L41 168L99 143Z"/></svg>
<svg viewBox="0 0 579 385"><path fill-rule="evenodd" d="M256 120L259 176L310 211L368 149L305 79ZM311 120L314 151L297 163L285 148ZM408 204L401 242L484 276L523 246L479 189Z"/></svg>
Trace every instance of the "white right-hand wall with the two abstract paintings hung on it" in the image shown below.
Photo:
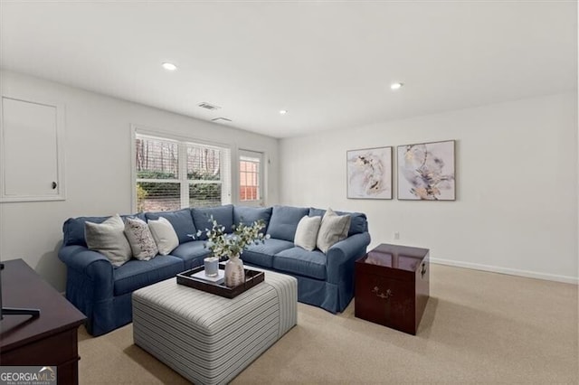
<svg viewBox="0 0 579 385"><path fill-rule="evenodd" d="M456 202L346 199L346 150L447 139L457 141ZM432 261L577 282L573 93L282 139L280 173L280 202L365 212L371 247L420 246Z"/></svg>

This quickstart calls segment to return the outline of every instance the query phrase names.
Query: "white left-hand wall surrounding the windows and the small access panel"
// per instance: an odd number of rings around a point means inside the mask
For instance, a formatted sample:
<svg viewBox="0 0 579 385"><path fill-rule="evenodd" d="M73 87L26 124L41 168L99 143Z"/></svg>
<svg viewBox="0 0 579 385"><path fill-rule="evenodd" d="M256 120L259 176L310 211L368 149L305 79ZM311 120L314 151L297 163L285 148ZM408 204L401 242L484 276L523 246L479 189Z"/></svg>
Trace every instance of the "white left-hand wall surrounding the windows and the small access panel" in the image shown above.
<svg viewBox="0 0 579 385"><path fill-rule="evenodd" d="M0 259L23 258L63 291L65 267L57 252L69 217L131 213L131 124L262 151L267 167L266 204L278 202L278 140L113 99L82 89L2 71L2 94L62 103L66 108L66 201L0 203ZM195 102L192 101L192 103ZM234 170L233 170L234 171Z"/></svg>

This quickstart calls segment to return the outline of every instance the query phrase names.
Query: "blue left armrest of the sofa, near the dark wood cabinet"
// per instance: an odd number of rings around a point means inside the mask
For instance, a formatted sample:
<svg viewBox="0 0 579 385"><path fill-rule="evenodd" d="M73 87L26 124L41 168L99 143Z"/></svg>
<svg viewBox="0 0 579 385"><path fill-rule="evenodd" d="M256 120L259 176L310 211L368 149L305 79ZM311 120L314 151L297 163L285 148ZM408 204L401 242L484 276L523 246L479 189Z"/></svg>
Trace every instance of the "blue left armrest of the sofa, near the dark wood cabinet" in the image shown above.
<svg viewBox="0 0 579 385"><path fill-rule="evenodd" d="M58 257L69 269L66 284L69 300L72 296L79 296L81 288L85 293L90 290L90 297L85 300L96 302L113 296L114 268L108 258L79 245L64 246Z"/></svg>

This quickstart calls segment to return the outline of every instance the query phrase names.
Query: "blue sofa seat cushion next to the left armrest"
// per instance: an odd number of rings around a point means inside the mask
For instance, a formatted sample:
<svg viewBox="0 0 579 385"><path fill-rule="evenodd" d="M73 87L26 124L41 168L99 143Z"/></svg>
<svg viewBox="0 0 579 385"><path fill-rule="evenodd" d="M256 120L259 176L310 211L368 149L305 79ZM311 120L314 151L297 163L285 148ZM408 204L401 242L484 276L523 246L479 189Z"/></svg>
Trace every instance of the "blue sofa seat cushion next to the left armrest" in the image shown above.
<svg viewBox="0 0 579 385"><path fill-rule="evenodd" d="M175 277L185 270L181 258L157 256L151 260L131 259L113 271L114 295L122 296L141 287Z"/></svg>

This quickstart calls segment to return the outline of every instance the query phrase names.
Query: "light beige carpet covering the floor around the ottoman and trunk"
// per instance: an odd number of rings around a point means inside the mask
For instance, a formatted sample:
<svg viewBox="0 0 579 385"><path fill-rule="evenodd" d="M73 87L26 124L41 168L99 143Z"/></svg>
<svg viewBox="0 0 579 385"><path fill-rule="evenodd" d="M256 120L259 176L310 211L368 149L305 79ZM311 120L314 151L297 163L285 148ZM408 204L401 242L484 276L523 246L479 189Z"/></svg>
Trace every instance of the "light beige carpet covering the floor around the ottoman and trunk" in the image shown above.
<svg viewBox="0 0 579 385"><path fill-rule="evenodd" d="M416 336L299 304L298 325L242 371L243 383L579 383L577 286L431 266ZM133 344L132 324L79 330L79 378L188 383Z"/></svg>

